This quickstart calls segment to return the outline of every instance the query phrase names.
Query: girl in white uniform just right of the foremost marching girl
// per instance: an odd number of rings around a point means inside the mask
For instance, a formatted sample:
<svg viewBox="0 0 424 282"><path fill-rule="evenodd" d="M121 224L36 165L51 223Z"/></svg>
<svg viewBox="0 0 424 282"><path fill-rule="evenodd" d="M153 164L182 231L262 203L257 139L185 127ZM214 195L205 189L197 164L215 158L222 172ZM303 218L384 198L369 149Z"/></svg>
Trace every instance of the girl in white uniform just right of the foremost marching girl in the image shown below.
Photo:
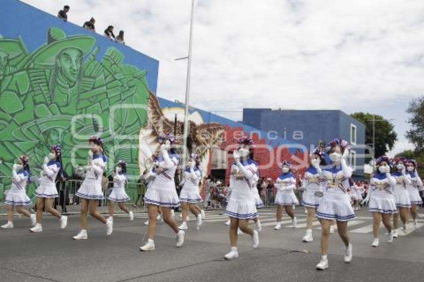
<svg viewBox="0 0 424 282"><path fill-rule="evenodd" d="M369 201L368 210L373 213L373 235L374 240L371 246L378 247L380 223L383 219L383 225L387 230L387 241L393 242L392 224L390 218L392 214L397 213L395 196L393 189L396 179L390 174L389 158L381 156L376 160L377 173L370 179L367 197L362 201Z"/></svg>

